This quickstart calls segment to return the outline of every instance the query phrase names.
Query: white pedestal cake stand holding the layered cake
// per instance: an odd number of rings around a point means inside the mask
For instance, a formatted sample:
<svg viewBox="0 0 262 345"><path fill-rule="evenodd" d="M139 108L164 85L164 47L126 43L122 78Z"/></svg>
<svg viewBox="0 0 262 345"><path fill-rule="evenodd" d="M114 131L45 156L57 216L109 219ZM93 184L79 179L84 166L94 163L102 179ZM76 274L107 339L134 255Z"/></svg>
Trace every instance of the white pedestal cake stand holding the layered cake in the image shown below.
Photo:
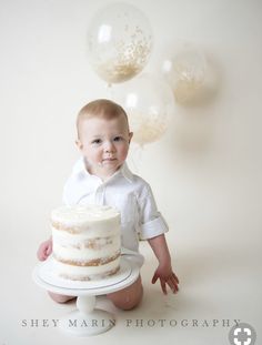
<svg viewBox="0 0 262 345"><path fill-rule="evenodd" d="M72 335L90 336L107 332L115 324L112 314L95 308L95 296L117 292L134 283L143 264L143 256L122 248L119 273L97 282L70 282L60 278L52 272L52 261L49 257L34 267L33 281L50 292L77 296L77 310L61 318L59 327Z"/></svg>

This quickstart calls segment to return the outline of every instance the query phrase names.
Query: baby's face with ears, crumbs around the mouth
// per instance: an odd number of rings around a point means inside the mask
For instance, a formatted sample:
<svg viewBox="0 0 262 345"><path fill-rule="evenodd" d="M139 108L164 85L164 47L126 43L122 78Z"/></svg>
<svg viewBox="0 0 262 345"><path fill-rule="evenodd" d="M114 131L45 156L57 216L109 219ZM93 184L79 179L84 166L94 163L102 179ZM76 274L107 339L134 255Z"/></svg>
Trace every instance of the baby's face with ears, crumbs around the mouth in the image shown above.
<svg viewBox="0 0 262 345"><path fill-rule="evenodd" d="M80 124L77 142L89 170L99 176L110 176L125 161L132 133L123 115L107 120L85 119Z"/></svg>

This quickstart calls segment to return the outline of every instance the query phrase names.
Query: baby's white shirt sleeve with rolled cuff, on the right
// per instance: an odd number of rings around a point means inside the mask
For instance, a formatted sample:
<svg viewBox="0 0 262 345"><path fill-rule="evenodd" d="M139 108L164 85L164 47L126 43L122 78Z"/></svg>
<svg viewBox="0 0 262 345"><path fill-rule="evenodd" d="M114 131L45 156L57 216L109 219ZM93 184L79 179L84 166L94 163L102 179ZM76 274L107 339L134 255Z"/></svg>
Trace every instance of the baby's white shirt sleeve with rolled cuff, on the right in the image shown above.
<svg viewBox="0 0 262 345"><path fill-rule="evenodd" d="M151 187L147 185L139 199L140 239L149 240L169 231L169 226L158 211Z"/></svg>

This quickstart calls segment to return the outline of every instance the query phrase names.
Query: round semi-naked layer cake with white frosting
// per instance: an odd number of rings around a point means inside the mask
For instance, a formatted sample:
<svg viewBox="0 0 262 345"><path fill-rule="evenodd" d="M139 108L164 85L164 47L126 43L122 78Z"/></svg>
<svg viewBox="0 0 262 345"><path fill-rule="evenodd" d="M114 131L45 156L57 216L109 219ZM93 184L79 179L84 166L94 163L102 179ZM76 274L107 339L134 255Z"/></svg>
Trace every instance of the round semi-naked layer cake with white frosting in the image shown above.
<svg viewBox="0 0 262 345"><path fill-rule="evenodd" d="M53 270L72 281L102 280L120 268L120 213L105 205L61 206L51 213Z"/></svg>

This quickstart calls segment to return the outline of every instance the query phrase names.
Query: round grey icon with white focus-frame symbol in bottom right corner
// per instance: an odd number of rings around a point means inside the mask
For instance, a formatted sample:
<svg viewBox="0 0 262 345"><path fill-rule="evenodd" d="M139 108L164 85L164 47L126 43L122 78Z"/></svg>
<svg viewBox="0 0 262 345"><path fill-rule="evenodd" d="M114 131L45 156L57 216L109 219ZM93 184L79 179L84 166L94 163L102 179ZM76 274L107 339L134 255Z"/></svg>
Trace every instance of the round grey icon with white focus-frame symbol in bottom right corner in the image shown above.
<svg viewBox="0 0 262 345"><path fill-rule="evenodd" d="M254 345L256 333L254 328L245 323L232 327L229 333L229 341L232 345Z"/></svg>

